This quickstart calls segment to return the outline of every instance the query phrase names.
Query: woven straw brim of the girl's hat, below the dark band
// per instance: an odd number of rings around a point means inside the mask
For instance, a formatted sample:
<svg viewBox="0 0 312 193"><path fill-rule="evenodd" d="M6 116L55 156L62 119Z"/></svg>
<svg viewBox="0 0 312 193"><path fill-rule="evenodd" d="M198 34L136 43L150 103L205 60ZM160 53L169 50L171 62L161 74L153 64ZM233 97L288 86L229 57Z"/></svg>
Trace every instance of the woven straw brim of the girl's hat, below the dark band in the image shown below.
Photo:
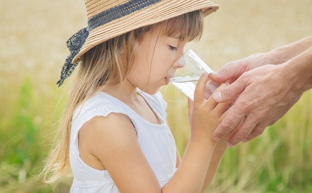
<svg viewBox="0 0 312 193"><path fill-rule="evenodd" d="M161 0L153 5L124 17L115 19L89 31L89 35L73 63L92 47L139 27L151 25L194 10L202 10L204 16L216 11L219 5L209 0Z"/></svg>

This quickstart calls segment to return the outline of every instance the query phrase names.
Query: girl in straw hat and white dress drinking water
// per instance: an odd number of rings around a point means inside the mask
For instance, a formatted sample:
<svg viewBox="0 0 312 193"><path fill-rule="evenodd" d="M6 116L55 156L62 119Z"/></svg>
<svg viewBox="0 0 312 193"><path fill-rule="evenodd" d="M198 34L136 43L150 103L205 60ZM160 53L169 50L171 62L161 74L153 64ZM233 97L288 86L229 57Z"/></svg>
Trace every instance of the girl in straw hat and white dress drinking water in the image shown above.
<svg viewBox="0 0 312 193"><path fill-rule="evenodd" d="M189 105L183 159L158 92L188 41L202 33L208 0L85 0L88 27L72 36L59 86L79 64L42 175L53 183L71 168L73 193L197 193L212 181L226 149L212 133L227 103L204 99L198 81ZM73 62L73 63L72 63ZM178 67L176 67L178 68Z"/></svg>

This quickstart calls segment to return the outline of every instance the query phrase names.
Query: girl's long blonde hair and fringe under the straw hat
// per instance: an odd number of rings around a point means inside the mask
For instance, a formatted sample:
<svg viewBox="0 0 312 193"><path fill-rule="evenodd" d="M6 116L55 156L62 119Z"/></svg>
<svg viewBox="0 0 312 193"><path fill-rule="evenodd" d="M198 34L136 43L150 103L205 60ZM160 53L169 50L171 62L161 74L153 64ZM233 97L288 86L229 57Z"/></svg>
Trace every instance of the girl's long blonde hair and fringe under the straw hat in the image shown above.
<svg viewBox="0 0 312 193"><path fill-rule="evenodd" d="M70 170L69 140L75 109L99 91L108 92L122 86L134 66L138 46L144 34L157 27L160 27L160 33L163 35L173 36L180 33L180 40L184 42L198 40L203 30L202 11L185 13L135 29L107 40L83 54L66 110L55 135L56 143L38 176L43 182L55 183Z"/></svg>

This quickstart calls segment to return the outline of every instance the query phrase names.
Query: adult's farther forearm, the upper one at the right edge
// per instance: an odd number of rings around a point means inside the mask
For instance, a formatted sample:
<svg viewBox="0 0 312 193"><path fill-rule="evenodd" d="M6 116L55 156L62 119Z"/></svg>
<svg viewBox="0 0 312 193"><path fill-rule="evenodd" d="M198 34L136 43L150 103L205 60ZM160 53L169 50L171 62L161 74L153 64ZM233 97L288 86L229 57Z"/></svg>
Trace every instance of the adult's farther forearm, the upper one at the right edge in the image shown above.
<svg viewBox="0 0 312 193"><path fill-rule="evenodd" d="M283 64L312 47L312 36L302 38L296 42L275 48L268 52L271 64Z"/></svg>

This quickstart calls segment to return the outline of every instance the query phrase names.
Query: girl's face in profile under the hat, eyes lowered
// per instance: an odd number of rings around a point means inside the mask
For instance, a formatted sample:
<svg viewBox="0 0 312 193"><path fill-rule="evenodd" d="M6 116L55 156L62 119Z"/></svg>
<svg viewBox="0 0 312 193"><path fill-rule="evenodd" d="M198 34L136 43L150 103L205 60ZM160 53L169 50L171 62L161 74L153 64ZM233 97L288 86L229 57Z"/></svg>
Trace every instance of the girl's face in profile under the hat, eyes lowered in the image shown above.
<svg viewBox="0 0 312 193"><path fill-rule="evenodd" d="M150 95L155 94L169 83L166 73L183 55L185 44L180 41L179 34L168 37L158 36L158 31L148 32L139 45L129 82Z"/></svg>

